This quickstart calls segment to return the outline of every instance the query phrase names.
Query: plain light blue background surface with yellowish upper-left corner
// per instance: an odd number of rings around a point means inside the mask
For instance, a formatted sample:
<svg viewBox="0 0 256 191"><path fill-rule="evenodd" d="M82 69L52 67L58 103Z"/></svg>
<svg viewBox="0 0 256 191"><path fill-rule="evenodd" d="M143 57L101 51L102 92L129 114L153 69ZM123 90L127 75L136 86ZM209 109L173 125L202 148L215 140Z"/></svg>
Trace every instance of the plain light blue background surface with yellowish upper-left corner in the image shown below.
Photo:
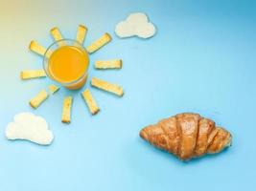
<svg viewBox="0 0 256 191"><path fill-rule="evenodd" d="M0 190L253 190L256 177L256 1L94 0L14 1L0 7ZM115 25L133 11L146 12L158 29L149 40L119 39ZM29 53L35 39L52 42L58 26L74 38L89 29L85 46L109 32L113 41L91 55L90 77L124 87L120 98L91 88L101 112L90 116L80 92L61 89L37 110L28 101L48 79L21 81L42 58ZM96 71L98 59L122 58L121 71ZM88 86L88 84L86 85ZM64 96L73 95L72 122L60 122ZM51 146L4 137L20 112L45 117ZM138 133L181 112L213 118L233 135L216 156L181 162Z"/></svg>

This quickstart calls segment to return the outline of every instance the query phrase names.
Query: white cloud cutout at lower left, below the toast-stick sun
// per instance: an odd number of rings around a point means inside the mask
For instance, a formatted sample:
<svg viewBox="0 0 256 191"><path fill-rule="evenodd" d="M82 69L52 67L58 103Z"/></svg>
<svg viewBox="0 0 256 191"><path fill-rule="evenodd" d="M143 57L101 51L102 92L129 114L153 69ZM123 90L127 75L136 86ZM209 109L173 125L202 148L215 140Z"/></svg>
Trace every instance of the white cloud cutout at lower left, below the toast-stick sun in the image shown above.
<svg viewBox="0 0 256 191"><path fill-rule="evenodd" d="M6 128L8 139L26 139L37 144L51 144L54 135L49 130L48 124L43 117L31 113L21 113L14 117Z"/></svg>

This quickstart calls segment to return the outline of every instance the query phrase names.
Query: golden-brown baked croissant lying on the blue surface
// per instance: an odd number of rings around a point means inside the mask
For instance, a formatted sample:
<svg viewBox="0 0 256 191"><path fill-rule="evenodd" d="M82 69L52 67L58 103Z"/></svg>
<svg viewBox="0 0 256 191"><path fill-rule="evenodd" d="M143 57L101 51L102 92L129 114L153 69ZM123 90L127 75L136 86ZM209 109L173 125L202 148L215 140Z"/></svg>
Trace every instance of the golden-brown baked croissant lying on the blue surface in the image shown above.
<svg viewBox="0 0 256 191"><path fill-rule="evenodd" d="M231 134L213 120L192 113L162 119L143 128L140 137L182 160L220 153L232 141Z"/></svg>

